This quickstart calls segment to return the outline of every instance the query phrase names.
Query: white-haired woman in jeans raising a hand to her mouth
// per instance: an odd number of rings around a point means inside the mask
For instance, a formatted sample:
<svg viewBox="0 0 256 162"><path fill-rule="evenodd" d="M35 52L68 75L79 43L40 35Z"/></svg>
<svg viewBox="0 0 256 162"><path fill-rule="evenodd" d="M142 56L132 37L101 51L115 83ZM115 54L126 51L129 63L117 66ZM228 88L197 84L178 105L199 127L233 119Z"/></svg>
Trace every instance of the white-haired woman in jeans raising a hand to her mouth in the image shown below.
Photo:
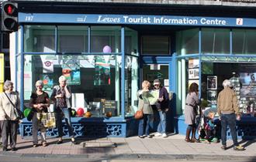
<svg viewBox="0 0 256 162"><path fill-rule="evenodd" d="M77 144L74 139L74 132L71 124L71 88L67 86L67 79L65 78L65 76L61 76L59 78L59 83L60 85L54 86L53 93L51 93L50 95L50 100L54 101L54 112L57 114L56 122L59 134L59 140L57 140L57 144L63 142L63 117L65 122L67 123L67 129L69 136L71 137L72 143Z"/></svg>

